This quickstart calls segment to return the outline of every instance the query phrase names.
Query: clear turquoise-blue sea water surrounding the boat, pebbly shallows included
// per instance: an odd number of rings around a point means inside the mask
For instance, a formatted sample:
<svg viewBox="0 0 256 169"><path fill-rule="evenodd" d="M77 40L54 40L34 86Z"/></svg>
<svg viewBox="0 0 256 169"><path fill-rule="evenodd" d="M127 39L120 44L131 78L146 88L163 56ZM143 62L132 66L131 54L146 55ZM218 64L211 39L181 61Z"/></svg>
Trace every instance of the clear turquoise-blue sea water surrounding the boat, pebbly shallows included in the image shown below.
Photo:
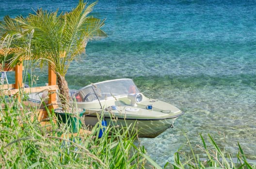
<svg viewBox="0 0 256 169"><path fill-rule="evenodd" d="M70 11L77 3L1 0L0 20L37 8ZM70 88L132 78L145 96L185 112L174 128L139 140L162 167L177 151L202 154L200 133L234 156L239 142L256 159L255 0L99 0L92 14L106 18L108 37L88 42L72 63ZM35 73L38 84L47 82L44 71Z"/></svg>

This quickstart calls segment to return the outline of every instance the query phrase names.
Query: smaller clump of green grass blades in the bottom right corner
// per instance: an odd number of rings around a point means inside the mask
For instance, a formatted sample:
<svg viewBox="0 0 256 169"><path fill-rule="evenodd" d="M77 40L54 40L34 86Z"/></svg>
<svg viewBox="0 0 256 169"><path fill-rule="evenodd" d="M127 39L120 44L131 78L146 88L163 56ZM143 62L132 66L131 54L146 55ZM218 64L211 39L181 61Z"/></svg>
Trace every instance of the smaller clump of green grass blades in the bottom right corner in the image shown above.
<svg viewBox="0 0 256 169"><path fill-rule="evenodd" d="M203 146L199 146L199 148L204 152L204 156L195 156L192 147L192 158L184 154L182 155L180 152L176 152L175 163L172 164L174 169L256 169L255 164L249 164L247 162L247 159L239 143L239 153L237 155L237 161L235 161L235 158L233 158L231 154L226 153L224 150L219 148L217 143L210 135L208 135L210 148L207 146L207 142L201 134L200 137ZM188 142L190 145L189 140Z"/></svg>

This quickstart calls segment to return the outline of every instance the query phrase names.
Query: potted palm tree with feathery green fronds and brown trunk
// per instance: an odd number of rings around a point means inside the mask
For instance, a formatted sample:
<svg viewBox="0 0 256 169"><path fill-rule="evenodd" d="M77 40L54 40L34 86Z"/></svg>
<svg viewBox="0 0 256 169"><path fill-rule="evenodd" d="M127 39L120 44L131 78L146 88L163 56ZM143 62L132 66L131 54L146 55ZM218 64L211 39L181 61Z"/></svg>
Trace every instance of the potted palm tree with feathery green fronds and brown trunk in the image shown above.
<svg viewBox="0 0 256 169"><path fill-rule="evenodd" d="M69 107L69 89L65 75L70 63L85 52L88 40L106 36L101 30L105 20L88 16L96 2L88 4L79 1L71 12L48 12L38 9L28 17L17 16L12 19L4 17L1 36L13 36L13 46L23 47L23 54L17 54L12 61L23 60L29 56L34 61L50 63L57 75L60 99L63 108ZM29 54L28 54L29 53Z"/></svg>

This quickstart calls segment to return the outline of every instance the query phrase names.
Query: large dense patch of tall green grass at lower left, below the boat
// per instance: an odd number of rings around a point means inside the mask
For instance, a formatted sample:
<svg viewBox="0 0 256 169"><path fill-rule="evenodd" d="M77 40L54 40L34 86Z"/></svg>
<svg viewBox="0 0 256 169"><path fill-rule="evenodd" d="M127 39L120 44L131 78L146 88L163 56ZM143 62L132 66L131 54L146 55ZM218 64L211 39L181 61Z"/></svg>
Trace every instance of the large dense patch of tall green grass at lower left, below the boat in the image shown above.
<svg viewBox="0 0 256 169"><path fill-rule="evenodd" d="M37 108L2 95L0 103L0 168L143 169L149 164L160 168L144 147L134 144L137 137L130 132L132 126L108 126L99 139L99 124L91 134L81 131L76 136L67 126L58 126L48 109L48 126L43 126L37 120Z"/></svg>

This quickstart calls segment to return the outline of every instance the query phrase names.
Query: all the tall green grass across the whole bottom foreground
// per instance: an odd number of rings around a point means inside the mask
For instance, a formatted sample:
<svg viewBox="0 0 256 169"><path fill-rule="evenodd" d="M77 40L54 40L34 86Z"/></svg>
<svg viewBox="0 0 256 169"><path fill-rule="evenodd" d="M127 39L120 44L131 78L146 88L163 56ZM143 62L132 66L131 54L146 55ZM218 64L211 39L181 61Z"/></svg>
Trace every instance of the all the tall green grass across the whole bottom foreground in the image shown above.
<svg viewBox="0 0 256 169"><path fill-rule="evenodd" d="M42 127L42 122L37 120L36 107L28 109L17 99L3 95L0 96L0 104L3 105L0 108L1 169L161 169L146 154L143 146L134 144L137 139L134 126L108 126L99 139L102 127L99 123L90 135L70 136L68 126L54 123L56 117L49 110L51 130ZM61 138L61 134L64 137ZM164 168L256 169L255 164L247 161L239 143L238 154L232 156L219 148L210 135L207 140L202 135L200 137L200 155L194 153L187 139L192 155L178 151L174 154L175 162L166 163Z"/></svg>

